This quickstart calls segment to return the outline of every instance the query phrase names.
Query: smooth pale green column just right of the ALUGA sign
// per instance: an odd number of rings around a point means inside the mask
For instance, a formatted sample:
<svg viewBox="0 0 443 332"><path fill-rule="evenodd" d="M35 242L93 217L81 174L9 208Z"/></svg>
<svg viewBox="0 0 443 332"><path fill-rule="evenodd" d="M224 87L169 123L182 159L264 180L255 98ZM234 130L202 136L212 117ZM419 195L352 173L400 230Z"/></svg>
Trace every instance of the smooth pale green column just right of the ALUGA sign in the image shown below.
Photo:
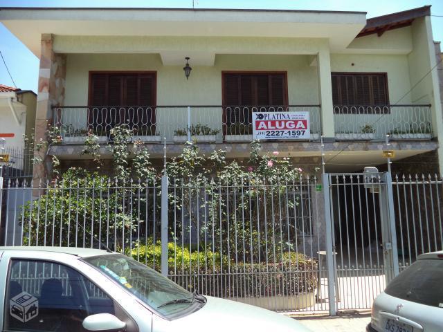
<svg viewBox="0 0 443 332"><path fill-rule="evenodd" d="M335 139L332 107L331 59L329 50L320 50L318 59L318 91L321 104L322 131L325 141Z"/></svg>

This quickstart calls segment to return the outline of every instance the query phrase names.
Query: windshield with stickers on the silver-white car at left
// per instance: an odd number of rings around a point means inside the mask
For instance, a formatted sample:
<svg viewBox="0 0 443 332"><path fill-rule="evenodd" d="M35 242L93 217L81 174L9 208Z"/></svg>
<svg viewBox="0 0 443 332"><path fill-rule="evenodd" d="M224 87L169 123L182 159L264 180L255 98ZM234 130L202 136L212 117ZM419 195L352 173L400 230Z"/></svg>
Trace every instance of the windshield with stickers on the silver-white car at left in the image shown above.
<svg viewBox="0 0 443 332"><path fill-rule="evenodd" d="M201 295L186 291L152 268L125 255L89 257L84 261L165 317L183 315L183 311L200 308L204 302Z"/></svg>

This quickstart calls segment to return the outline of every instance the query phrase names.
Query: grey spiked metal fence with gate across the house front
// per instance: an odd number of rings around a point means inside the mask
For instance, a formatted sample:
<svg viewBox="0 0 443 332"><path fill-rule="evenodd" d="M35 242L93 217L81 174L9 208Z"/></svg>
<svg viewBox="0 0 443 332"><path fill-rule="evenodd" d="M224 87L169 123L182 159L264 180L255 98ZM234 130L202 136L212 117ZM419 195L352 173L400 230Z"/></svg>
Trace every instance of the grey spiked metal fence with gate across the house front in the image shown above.
<svg viewBox="0 0 443 332"><path fill-rule="evenodd" d="M370 308L443 249L437 176L6 181L1 242L123 252L190 291L274 311Z"/></svg>

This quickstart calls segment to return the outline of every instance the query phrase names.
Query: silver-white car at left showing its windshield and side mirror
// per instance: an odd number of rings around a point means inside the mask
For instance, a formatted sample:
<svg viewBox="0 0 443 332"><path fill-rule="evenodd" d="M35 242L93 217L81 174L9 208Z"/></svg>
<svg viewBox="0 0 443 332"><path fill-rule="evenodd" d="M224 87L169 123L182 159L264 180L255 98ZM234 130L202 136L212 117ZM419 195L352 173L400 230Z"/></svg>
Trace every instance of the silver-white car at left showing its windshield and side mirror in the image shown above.
<svg viewBox="0 0 443 332"><path fill-rule="evenodd" d="M105 250L0 247L2 331L308 331L271 311L190 293Z"/></svg>

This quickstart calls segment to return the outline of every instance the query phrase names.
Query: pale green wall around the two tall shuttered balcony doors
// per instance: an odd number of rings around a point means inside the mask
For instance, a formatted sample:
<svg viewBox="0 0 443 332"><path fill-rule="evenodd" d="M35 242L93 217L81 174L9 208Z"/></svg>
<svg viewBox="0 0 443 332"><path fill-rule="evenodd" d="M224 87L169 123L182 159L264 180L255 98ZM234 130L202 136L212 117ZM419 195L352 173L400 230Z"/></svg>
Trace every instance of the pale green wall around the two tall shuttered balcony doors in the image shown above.
<svg viewBox="0 0 443 332"><path fill-rule="evenodd" d="M156 71L157 105L222 104L222 71L286 71L289 104L319 104L317 68L308 55L217 55L214 66L193 66L189 80L181 66L163 66L158 54L70 54L67 57L66 106L87 105L89 71ZM74 111L81 127L86 120ZM186 127L187 109L157 109L157 130L172 138L174 129ZM221 108L192 107L192 123L221 129ZM84 114L84 112L83 112ZM67 120L67 119L66 119ZM72 123L72 120L69 119ZM221 132L219 133L221 139Z"/></svg>

